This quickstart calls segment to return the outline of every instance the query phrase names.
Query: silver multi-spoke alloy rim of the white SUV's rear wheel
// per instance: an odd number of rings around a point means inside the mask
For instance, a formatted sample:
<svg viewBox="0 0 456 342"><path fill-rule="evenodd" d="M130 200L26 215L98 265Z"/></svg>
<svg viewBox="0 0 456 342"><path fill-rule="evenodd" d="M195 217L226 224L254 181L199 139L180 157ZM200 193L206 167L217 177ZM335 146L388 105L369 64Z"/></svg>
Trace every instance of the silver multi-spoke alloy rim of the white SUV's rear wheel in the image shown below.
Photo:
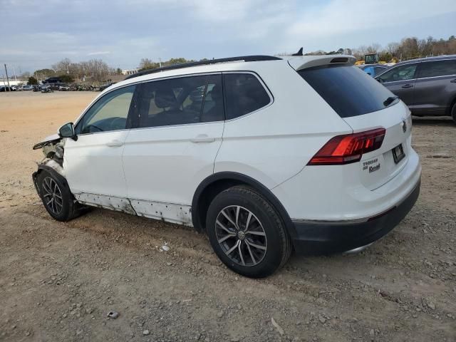
<svg viewBox="0 0 456 342"><path fill-rule="evenodd" d="M217 215L215 234L224 254L236 264L255 266L266 255L266 232L249 209L224 207Z"/></svg>

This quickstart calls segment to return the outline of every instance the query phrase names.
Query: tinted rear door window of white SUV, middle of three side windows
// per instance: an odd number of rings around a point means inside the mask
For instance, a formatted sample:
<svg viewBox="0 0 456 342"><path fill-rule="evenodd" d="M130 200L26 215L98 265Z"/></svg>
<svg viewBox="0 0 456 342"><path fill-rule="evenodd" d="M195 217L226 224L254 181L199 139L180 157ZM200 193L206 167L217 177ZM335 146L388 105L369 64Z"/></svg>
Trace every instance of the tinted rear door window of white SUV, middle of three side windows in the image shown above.
<svg viewBox="0 0 456 342"><path fill-rule="evenodd" d="M189 76L141 85L140 128L224 120L222 76Z"/></svg>

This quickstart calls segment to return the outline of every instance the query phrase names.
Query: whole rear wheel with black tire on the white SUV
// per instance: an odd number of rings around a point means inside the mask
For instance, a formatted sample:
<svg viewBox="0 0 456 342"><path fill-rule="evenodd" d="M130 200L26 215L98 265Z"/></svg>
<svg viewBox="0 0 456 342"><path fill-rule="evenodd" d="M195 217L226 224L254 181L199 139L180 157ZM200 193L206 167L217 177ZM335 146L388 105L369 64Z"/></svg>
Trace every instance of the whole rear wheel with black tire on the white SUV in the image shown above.
<svg viewBox="0 0 456 342"><path fill-rule="evenodd" d="M206 227L215 254L242 276L269 276L290 257L291 240L279 214L250 187L220 192L209 205Z"/></svg>

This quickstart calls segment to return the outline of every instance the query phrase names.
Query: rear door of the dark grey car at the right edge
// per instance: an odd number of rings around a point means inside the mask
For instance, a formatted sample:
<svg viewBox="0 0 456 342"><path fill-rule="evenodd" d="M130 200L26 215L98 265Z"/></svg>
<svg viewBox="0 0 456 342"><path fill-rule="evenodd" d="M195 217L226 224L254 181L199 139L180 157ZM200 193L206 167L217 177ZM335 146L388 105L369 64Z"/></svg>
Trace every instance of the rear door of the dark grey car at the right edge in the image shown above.
<svg viewBox="0 0 456 342"><path fill-rule="evenodd" d="M415 82L417 115L446 115L456 94L456 59L423 61Z"/></svg>

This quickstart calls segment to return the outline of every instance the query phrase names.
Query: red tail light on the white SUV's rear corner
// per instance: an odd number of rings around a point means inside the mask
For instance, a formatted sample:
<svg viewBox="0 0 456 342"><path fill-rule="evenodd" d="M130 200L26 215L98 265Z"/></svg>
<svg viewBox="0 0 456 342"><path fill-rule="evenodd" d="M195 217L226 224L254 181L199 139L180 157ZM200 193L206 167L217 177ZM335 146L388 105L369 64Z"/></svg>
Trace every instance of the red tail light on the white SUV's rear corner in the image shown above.
<svg viewBox="0 0 456 342"><path fill-rule="evenodd" d="M385 128L337 135L331 138L307 165L343 165L361 160L363 153L378 150L385 138Z"/></svg>

